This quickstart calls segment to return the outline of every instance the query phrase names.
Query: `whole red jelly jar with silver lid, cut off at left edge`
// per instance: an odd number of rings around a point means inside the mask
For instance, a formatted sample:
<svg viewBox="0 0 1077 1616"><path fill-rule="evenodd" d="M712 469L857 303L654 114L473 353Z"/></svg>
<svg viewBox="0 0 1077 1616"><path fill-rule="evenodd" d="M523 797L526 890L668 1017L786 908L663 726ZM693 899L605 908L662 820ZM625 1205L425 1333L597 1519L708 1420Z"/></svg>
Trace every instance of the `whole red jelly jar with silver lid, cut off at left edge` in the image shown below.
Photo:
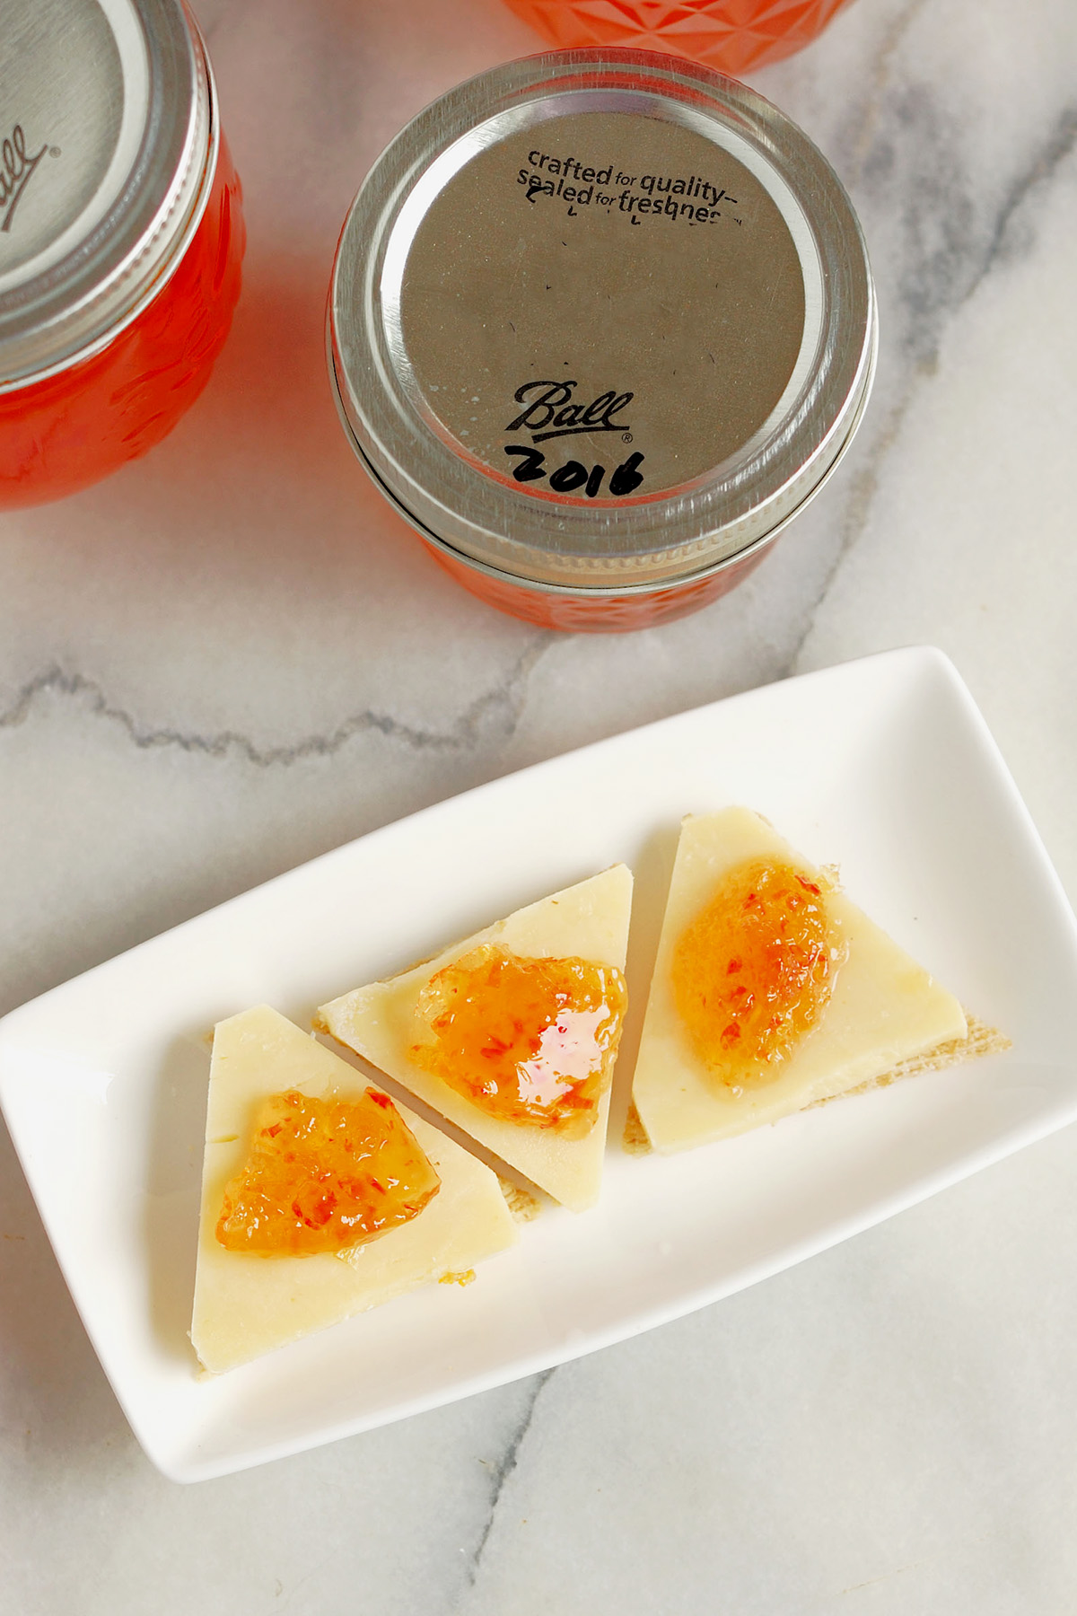
<svg viewBox="0 0 1077 1616"><path fill-rule="evenodd" d="M0 0L0 509L160 443L239 297L241 186L182 0Z"/></svg>

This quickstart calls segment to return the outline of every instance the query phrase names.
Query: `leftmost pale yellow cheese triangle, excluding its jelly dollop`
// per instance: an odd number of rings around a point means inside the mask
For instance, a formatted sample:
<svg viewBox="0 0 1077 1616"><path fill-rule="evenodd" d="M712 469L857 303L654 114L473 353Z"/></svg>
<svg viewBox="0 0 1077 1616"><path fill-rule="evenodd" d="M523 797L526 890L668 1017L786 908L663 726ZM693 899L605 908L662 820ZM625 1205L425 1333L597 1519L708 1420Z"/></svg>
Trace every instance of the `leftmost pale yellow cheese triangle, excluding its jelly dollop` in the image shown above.
<svg viewBox="0 0 1077 1616"><path fill-rule="evenodd" d="M247 1160L260 1102L289 1089L355 1099L368 1088L362 1073L268 1005L218 1023L191 1325L205 1369L234 1369L417 1285L467 1273L513 1244L517 1228L496 1173L404 1105L397 1110L441 1178L438 1194L409 1223L341 1254L263 1257L218 1244L224 1186Z"/></svg>

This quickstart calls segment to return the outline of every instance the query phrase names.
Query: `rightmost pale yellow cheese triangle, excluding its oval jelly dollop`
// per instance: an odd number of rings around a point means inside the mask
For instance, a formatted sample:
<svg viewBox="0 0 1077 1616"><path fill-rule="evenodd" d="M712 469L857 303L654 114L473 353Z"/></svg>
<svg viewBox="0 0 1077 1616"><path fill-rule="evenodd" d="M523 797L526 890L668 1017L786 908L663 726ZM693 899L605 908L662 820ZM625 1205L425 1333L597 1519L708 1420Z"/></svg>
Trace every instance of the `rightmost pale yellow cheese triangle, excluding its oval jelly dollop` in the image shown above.
<svg viewBox="0 0 1077 1616"><path fill-rule="evenodd" d="M723 876L759 856L793 865L823 890L830 886L746 808L683 823L633 1078L633 1104L657 1151L683 1151L777 1122L966 1036L954 995L840 890L828 890L827 913L848 953L819 1020L775 1065L772 1079L741 1089L715 1079L677 1010L673 952Z"/></svg>

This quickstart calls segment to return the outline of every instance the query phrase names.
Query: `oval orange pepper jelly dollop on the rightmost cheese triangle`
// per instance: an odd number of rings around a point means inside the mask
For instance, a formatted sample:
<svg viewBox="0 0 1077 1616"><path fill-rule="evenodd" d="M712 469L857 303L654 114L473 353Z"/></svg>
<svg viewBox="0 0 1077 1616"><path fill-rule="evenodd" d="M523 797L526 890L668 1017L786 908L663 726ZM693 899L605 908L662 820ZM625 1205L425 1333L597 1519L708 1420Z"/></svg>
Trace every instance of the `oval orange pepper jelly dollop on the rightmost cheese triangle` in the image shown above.
<svg viewBox="0 0 1077 1616"><path fill-rule="evenodd" d="M846 953L827 887L778 858L735 865L673 950L691 1044L727 1088L773 1081L819 1021Z"/></svg>

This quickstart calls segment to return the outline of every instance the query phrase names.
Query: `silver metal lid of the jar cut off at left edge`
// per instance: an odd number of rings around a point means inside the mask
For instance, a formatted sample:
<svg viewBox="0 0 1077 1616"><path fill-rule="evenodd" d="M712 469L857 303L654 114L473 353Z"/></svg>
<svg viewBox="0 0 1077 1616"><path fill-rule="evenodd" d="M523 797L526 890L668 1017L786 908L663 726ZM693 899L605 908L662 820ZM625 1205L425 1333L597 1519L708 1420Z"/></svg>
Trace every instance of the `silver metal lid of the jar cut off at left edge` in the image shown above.
<svg viewBox="0 0 1077 1616"><path fill-rule="evenodd" d="M89 357L176 267L218 120L182 0L0 0L0 391Z"/></svg>

